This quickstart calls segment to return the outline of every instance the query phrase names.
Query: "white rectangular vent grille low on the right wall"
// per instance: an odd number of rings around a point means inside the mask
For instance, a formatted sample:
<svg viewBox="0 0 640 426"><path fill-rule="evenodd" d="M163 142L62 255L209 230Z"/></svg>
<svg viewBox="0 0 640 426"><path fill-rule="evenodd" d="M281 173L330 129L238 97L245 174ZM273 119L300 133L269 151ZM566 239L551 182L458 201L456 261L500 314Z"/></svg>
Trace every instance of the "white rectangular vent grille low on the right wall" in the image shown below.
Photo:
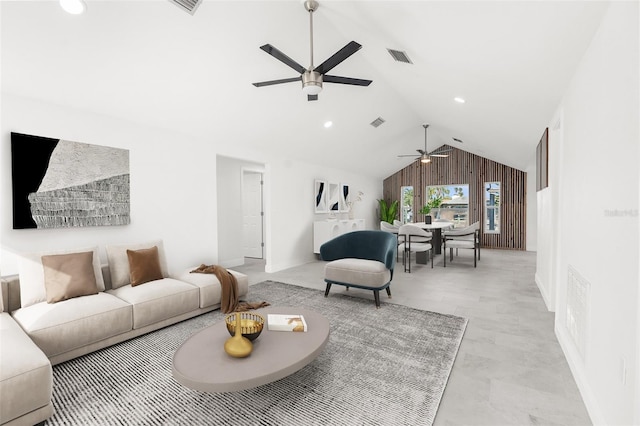
<svg viewBox="0 0 640 426"><path fill-rule="evenodd" d="M590 293L591 283L569 265L566 327L583 360L585 360L586 355Z"/></svg>

